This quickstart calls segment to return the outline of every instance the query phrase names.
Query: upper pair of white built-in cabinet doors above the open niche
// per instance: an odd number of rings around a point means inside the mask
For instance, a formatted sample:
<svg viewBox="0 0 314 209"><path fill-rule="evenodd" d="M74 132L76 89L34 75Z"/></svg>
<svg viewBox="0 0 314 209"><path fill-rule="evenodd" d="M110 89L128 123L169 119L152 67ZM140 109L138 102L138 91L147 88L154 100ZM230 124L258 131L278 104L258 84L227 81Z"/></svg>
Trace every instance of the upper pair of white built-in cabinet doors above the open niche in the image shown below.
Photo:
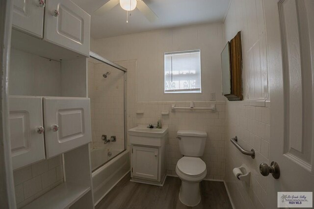
<svg viewBox="0 0 314 209"><path fill-rule="evenodd" d="M14 29L89 56L90 15L71 0L14 0L13 11Z"/></svg>

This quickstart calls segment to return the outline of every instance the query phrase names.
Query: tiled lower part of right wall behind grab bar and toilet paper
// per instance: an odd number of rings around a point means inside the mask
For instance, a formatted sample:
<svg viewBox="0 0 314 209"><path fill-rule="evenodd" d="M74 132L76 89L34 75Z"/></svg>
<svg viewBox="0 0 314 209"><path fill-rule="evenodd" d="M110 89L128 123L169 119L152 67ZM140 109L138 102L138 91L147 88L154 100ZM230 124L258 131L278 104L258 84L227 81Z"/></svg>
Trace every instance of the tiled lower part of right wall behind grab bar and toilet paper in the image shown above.
<svg viewBox="0 0 314 209"><path fill-rule="evenodd" d="M267 177L260 174L261 163L269 164L270 108L248 106L243 102L227 102L227 138L225 182L235 208L265 208ZM238 143L246 150L255 150L255 159L243 155L230 139L237 136ZM239 181L233 168L245 163L251 171L250 185Z"/></svg>

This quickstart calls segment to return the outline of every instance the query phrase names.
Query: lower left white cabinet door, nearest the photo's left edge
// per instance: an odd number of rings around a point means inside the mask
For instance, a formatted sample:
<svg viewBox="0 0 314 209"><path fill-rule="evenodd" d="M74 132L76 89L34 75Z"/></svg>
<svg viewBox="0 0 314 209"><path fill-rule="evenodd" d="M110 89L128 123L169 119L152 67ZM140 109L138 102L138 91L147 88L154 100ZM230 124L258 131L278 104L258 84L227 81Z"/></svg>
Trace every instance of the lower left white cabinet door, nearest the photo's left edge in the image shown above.
<svg viewBox="0 0 314 209"><path fill-rule="evenodd" d="M9 110L13 169L45 159L42 98L10 97Z"/></svg>

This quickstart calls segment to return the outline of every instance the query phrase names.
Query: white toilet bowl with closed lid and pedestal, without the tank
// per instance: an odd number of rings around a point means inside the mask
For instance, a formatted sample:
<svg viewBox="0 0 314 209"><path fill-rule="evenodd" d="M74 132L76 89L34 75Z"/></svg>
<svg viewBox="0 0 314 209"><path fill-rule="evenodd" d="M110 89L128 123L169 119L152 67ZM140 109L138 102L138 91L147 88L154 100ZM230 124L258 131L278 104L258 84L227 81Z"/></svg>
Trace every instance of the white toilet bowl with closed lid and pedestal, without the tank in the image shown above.
<svg viewBox="0 0 314 209"><path fill-rule="evenodd" d="M176 166L182 180L179 199L186 206L197 206L201 202L200 182L206 177L206 164L200 158L183 157Z"/></svg>

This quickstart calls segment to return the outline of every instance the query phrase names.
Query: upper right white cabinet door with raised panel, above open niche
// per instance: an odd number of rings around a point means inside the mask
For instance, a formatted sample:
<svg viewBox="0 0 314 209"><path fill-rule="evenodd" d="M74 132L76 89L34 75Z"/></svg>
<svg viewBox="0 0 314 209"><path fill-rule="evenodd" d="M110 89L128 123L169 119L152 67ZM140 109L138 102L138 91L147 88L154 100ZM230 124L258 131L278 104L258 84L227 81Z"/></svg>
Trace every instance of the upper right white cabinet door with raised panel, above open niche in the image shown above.
<svg viewBox="0 0 314 209"><path fill-rule="evenodd" d="M89 56L90 15L70 0L48 0L44 40Z"/></svg>

